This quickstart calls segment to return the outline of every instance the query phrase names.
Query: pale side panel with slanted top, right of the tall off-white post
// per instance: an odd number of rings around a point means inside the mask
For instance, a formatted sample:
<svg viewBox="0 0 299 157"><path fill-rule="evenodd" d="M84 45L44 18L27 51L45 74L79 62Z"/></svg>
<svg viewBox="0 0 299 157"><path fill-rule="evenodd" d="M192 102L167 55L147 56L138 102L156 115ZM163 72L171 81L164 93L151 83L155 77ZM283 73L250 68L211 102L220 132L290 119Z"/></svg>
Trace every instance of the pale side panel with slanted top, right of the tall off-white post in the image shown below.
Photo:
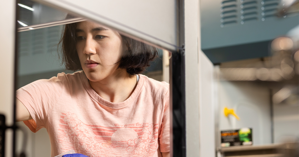
<svg viewBox="0 0 299 157"><path fill-rule="evenodd" d="M213 64L199 52L199 142L200 156L215 156L215 94Z"/></svg>

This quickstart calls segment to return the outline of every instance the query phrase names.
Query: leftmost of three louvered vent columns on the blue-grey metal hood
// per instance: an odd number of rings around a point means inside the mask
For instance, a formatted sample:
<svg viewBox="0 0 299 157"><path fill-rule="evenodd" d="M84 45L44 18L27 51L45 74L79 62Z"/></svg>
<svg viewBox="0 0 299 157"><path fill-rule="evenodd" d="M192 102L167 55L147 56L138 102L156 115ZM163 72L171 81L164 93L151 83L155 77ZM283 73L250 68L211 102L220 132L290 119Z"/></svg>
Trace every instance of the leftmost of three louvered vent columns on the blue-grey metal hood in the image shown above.
<svg viewBox="0 0 299 157"><path fill-rule="evenodd" d="M238 23L237 0L225 0L221 2L220 27L235 25Z"/></svg>

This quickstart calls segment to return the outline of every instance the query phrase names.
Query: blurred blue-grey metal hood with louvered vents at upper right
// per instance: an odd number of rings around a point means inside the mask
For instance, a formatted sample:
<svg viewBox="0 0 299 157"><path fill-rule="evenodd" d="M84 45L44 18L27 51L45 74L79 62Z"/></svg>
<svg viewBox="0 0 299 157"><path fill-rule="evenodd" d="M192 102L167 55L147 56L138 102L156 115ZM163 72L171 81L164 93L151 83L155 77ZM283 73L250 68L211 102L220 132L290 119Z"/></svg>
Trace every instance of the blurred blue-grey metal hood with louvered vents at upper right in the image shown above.
<svg viewBox="0 0 299 157"><path fill-rule="evenodd" d="M202 51L214 64L271 56L269 43L299 25L298 11L278 10L298 7L289 1L201 0Z"/></svg>

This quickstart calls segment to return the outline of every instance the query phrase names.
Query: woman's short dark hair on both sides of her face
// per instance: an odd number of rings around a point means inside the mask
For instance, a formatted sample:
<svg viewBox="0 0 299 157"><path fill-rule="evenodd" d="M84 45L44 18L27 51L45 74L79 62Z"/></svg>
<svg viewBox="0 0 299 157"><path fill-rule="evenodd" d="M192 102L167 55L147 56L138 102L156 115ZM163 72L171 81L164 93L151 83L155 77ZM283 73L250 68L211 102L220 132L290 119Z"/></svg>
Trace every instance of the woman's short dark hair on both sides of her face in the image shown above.
<svg viewBox="0 0 299 157"><path fill-rule="evenodd" d="M77 22L66 24L59 42L59 57L62 58L66 70L71 71L82 70L76 50L76 26ZM124 51L123 57L118 62L118 68L126 69L130 75L144 71L158 56L157 48L123 35L121 37L123 43L129 44L129 50Z"/></svg>

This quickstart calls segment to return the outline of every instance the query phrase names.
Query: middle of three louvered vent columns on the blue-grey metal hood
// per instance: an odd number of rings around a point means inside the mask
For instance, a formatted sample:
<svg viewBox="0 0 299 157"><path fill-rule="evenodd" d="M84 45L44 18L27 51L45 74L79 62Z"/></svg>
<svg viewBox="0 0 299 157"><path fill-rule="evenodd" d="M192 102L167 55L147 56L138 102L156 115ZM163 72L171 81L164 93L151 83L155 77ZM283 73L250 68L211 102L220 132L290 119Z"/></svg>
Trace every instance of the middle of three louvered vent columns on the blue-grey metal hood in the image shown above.
<svg viewBox="0 0 299 157"><path fill-rule="evenodd" d="M250 21L258 21L258 1L257 0L240 0L241 2L241 24Z"/></svg>

